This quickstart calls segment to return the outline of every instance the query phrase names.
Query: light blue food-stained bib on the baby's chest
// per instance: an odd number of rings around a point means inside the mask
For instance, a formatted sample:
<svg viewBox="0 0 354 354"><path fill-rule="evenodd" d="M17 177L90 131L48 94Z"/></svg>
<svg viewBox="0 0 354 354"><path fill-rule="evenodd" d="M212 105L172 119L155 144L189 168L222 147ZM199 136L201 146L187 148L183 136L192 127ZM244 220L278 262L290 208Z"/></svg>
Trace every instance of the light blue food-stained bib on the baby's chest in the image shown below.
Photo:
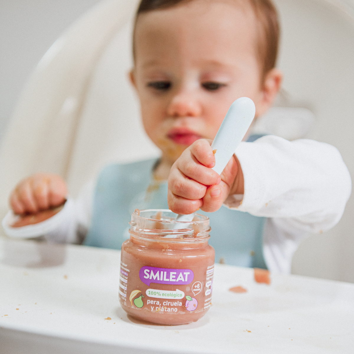
<svg viewBox="0 0 354 354"><path fill-rule="evenodd" d="M156 160L105 167L96 185L91 228L85 245L120 249L129 238L129 221L135 209L169 209L167 182L152 178ZM265 218L222 206L205 213L212 228L209 244L215 261L242 267L267 268L263 258Z"/></svg>

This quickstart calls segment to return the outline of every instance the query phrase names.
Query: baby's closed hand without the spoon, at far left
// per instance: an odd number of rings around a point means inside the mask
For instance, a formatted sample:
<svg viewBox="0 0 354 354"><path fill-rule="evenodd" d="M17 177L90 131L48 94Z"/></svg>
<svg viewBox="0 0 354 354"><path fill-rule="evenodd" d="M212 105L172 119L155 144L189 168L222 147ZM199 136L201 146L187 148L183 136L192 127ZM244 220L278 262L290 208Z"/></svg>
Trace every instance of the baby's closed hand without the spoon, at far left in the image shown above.
<svg viewBox="0 0 354 354"><path fill-rule="evenodd" d="M10 205L15 214L37 213L61 205L67 188L60 176L36 173L16 186L10 195Z"/></svg>

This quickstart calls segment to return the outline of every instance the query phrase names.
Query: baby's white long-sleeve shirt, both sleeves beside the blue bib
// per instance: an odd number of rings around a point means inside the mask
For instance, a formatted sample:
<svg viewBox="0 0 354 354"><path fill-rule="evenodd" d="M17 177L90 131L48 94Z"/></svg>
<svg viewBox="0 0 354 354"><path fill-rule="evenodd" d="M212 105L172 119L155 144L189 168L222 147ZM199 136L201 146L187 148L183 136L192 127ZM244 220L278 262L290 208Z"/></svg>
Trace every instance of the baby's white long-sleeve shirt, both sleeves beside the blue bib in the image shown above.
<svg viewBox="0 0 354 354"><path fill-rule="evenodd" d="M289 274L301 241L329 230L342 217L351 193L348 169L335 147L308 139L290 142L268 135L241 142L235 154L244 174L244 194L230 195L224 204L268 218L265 262L271 272ZM77 242L87 233L94 185L86 185L75 201L68 199L60 225L45 235L48 241Z"/></svg>

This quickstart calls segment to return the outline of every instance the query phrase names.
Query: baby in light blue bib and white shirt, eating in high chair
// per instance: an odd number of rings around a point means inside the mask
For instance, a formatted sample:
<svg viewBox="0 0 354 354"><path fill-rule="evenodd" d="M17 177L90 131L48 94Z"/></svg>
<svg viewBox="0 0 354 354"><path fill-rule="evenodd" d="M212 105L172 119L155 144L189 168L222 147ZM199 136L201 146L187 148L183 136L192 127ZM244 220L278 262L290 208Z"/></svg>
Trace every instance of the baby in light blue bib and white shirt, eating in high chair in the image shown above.
<svg viewBox="0 0 354 354"><path fill-rule="evenodd" d="M344 211L351 182L338 150L247 134L220 176L211 169L210 144L230 104L251 98L256 118L272 106L282 81L278 38L269 0L142 0L130 79L161 158L106 167L92 216L86 191L68 199L65 221L46 237L77 242L81 230L84 244L119 249L135 208L201 209L216 261L290 273L304 237L333 227ZM37 174L17 185L10 204L17 214L37 213L66 195L59 176Z"/></svg>

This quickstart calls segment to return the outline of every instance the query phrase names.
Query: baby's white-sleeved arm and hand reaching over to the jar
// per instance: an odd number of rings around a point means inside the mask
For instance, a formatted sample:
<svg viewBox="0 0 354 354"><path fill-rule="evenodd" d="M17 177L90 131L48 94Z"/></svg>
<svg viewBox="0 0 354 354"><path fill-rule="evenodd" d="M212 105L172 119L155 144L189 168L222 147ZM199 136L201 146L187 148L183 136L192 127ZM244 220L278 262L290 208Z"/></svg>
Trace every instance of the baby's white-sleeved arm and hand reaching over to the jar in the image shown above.
<svg viewBox="0 0 354 354"><path fill-rule="evenodd" d="M210 154L207 145L203 147ZM189 171L211 170L198 167L203 160L196 159L193 151L191 145L171 170L171 210L187 213L199 206L204 211L215 211L223 201L231 209L267 217L263 251L268 268L274 272L290 273L292 255L301 241L311 233L332 228L342 217L350 196L348 169L338 150L326 143L308 139L290 142L276 136L264 136L253 143L242 142L235 152L240 165L236 169L234 161L237 160L230 160L227 168L234 172L227 172L228 182L223 183L224 170L219 183L221 196L214 198L207 196L216 188L208 185L218 182L212 172L209 171L212 178L204 186L199 176L193 183L189 181L197 175ZM212 167L213 160L207 162ZM232 186L233 176L237 178ZM193 198L199 199L189 200Z"/></svg>

